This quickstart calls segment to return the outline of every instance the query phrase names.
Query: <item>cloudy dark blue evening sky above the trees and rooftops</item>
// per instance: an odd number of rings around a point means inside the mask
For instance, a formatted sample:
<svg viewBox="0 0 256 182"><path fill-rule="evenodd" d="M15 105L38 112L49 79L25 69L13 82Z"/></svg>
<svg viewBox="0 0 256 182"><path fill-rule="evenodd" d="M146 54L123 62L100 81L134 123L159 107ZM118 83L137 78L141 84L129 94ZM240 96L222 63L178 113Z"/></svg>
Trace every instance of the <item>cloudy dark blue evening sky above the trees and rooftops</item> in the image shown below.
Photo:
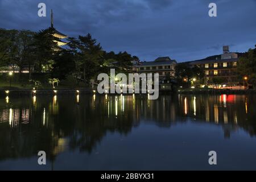
<svg viewBox="0 0 256 182"><path fill-rule="evenodd" d="M47 17L38 16L40 2ZM216 18L208 16L210 2L217 4ZM106 51L127 51L141 60L196 60L220 54L226 44L238 52L256 44L256 0L0 0L0 27L47 28L51 9L60 32L90 32Z"/></svg>

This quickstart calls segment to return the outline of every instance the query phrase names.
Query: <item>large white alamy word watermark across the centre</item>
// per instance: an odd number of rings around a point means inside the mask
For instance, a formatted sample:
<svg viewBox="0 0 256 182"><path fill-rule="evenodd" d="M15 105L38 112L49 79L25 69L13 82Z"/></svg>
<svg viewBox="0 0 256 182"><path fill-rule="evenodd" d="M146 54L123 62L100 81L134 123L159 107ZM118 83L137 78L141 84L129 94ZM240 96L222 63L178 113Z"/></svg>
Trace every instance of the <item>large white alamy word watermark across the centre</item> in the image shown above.
<svg viewBox="0 0 256 182"><path fill-rule="evenodd" d="M124 73L115 75L115 69L110 69L110 79L108 74L100 73L97 80L101 81L98 84L98 93L148 93L149 100L156 100L159 97L159 74L154 73L129 73L127 76ZM102 80L103 79L103 80ZM127 82L128 81L128 82Z"/></svg>

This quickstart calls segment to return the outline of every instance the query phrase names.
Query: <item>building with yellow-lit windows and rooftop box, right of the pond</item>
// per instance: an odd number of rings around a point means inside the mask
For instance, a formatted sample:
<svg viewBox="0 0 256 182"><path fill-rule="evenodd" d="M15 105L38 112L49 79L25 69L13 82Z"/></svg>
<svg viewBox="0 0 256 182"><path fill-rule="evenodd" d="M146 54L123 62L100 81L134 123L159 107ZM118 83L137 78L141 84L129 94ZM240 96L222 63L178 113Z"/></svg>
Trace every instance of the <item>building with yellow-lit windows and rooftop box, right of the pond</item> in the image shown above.
<svg viewBox="0 0 256 182"><path fill-rule="evenodd" d="M200 67L205 72L205 84L213 86L214 77L220 78L220 87L236 86L238 82L236 68L238 55L229 52L229 46L223 46L223 53L220 57L212 60L196 60L187 62L191 67Z"/></svg>

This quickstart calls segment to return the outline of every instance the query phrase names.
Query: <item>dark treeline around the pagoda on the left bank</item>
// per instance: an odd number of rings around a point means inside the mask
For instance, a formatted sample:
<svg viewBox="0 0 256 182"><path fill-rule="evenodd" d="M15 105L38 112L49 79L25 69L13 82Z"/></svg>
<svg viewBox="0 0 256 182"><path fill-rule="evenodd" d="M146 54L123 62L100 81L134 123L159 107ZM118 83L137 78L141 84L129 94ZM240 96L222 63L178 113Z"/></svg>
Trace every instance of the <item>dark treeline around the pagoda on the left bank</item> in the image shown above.
<svg viewBox="0 0 256 182"><path fill-rule="evenodd" d="M60 80L73 76L77 83L88 84L98 73L109 73L110 68L129 72L131 61L139 60L127 52L104 51L90 34L68 38L64 48L57 46L58 40L51 28L39 32L0 29L0 67L18 66L21 72L26 66L30 78L34 71Z"/></svg>

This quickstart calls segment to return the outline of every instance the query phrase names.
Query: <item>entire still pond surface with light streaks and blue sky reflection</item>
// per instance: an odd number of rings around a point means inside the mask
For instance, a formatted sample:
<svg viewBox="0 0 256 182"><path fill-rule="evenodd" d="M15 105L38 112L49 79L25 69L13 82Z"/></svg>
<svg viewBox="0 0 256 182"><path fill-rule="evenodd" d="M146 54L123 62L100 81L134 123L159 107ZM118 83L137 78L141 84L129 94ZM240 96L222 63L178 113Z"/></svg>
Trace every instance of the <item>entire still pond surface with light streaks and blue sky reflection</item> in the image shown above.
<svg viewBox="0 0 256 182"><path fill-rule="evenodd" d="M255 95L0 98L0 169L256 169L255 107Z"/></svg>

